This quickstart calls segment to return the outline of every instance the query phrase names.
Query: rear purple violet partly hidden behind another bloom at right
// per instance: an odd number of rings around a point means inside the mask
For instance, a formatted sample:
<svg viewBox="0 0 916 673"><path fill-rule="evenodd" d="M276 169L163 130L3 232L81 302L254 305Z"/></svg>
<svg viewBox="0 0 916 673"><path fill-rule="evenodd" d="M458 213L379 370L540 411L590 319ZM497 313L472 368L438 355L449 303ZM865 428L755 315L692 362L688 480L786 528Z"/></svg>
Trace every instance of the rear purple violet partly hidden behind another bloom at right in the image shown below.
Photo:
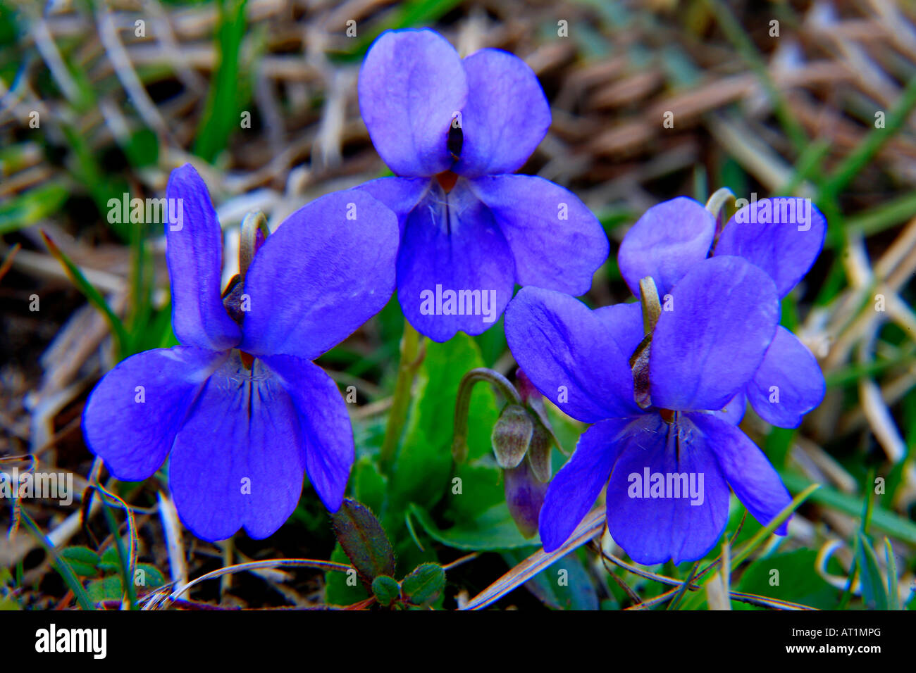
<svg viewBox="0 0 916 673"><path fill-rule="evenodd" d="M809 200L755 199L732 216L714 245L713 215L697 201L679 197L638 219L620 244L617 262L633 294L638 297L639 280L651 276L663 297L707 255L737 255L766 271L782 298L808 273L826 232L826 219ZM780 327L757 373L728 407L736 423L747 400L768 423L798 428L802 416L821 404L825 390L811 351Z"/></svg>

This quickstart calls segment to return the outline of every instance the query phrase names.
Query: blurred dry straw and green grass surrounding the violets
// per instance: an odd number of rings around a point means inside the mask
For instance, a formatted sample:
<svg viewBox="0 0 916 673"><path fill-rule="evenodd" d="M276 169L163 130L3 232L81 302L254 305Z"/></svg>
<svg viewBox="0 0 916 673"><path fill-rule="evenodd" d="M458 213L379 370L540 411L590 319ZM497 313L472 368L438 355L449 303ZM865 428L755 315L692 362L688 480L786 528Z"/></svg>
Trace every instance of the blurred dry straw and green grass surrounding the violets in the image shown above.
<svg viewBox="0 0 916 673"><path fill-rule="evenodd" d="M742 581L749 577L747 592L758 582L760 593L825 608L876 607L895 592L909 602L916 5L893 0L0 0L0 455L5 467L26 469L31 454L38 469L71 473L78 492L69 507L24 502L38 529L58 546L111 543L98 498L85 507L85 524L79 516L87 483L101 478L114 488L83 443L82 406L120 359L176 343L161 224L113 221L109 200L161 197L169 171L191 161L224 227L228 280L246 212L265 212L276 228L326 192L387 174L360 118L359 64L381 31L421 26L441 31L462 55L507 49L538 74L553 123L520 172L575 191L605 225L612 254L585 298L592 306L627 299L616 244L658 201L705 201L720 187L745 199L814 200L829 222L827 242L784 300L783 324L817 355L827 396L801 429L769 428L751 412L743 428L793 494L823 487L794 517L779 564L767 566L786 569L797 586L767 586L762 568L759 577L747 569ZM357 470L371 472L384 432L401 329L391 302L319 363L342 390L356 388ZM474 362L514 372L501 321L466 342ZM441 364L463 366L446 355ZM441 400L445 451L450 404ZM572 450L582 428L553 411L551 419ZM488 437L484 421L472 422ZM562 464L559 451L554 457ZM174 580L166 528L176 522L158 495L163 483L119 484L118 493L136 507L139 558ZM0 600L72 604L40 540L7 505ZM462 553L430 526L432 539L402 529L400 510L378 506L389 535L406 540L398 544L419 535L432 542L423 552L433 549L432 558ZM430 509L445 526L449 513ZM180 571L195 577L229 561L327 559L334 541L320 510L307 489L296 515L267 540L240 535L227 549L185 534ZM446 607L525 556L469 548L482 555L450 573ZM587 595L529 583L530 592L497 604L625 607L633 598L621 582L642 597L660 592L594 554L577 559ZM890 575L899 581L882 595L875 582L888 587ZM264 570L202 585L195 597L245 606L344 601L324 592L319 572Z"/></svg>

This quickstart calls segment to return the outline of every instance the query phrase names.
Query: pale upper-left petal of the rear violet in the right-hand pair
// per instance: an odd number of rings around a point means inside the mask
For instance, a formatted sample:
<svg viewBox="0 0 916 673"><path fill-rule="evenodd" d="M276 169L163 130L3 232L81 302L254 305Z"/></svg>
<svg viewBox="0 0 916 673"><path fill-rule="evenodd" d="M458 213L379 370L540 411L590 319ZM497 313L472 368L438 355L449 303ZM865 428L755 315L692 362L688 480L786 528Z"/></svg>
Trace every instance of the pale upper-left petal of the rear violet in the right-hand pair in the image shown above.
<svg viewBox="0 0 916 673"><path fill-rule="evenodd" d="M659 296L671 288L713 244L715 220L703 205L685 196L662 201L630 227L617 252L620 273L639 296L639 281L651 276Z"/></svg>

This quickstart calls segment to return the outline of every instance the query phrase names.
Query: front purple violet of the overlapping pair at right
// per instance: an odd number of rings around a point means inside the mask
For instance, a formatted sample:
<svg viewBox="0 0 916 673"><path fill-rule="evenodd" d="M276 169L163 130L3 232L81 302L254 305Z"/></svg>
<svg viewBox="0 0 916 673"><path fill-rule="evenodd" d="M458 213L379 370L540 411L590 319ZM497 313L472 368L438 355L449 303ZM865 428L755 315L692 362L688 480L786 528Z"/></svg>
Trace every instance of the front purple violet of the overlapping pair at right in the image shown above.
<svg viewBox="0 0 916 673"><path fill-rule="evenodd" d="M522 288L507 308L509 349L531 382L569 416L594 423L548 488L546 551L570 536L605 483L610 534L646 564L702 559L725 529L729 484L764 525L791 502L763 452L719 411L773 340L775 284L758 266L723 255L692 265L668 294L641 383L628 360L645 336L639 304L591 310L559 292ZM783 523L777 532L785 531Z"/></svg>

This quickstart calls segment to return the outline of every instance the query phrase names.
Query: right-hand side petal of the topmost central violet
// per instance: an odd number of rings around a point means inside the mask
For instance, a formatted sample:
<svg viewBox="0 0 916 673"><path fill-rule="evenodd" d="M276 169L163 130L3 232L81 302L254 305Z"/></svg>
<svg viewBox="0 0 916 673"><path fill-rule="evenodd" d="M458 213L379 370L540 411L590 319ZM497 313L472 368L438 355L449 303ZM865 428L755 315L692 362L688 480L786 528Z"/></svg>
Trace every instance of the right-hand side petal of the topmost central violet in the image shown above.
<svg viewBox="0 0 916 673"><path fill-rule="evenodd" d="M519 285L572 295L592 287L609 244L598 218L570 190L528 175L500 175L469 181L515 258Z"/></svg>

